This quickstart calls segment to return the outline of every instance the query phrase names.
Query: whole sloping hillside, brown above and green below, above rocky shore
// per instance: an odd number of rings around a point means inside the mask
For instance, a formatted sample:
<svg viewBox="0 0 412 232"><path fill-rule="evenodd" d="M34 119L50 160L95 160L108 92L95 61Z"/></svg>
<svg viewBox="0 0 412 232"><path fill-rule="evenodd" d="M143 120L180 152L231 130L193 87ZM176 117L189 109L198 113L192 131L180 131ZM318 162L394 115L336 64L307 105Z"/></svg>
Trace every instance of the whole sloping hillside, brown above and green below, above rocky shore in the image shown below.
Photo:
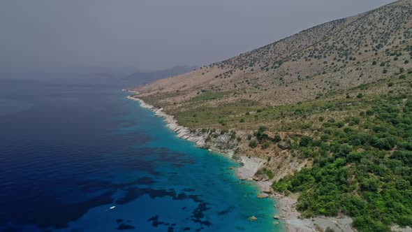
<svg viewBox="0 0 412 232"><path fill-rule="evenodd" d="M133 90L206 142L228 134L236 154L265 160L255 176L297 194L304 217L412 226L411 0Z"/></svg>

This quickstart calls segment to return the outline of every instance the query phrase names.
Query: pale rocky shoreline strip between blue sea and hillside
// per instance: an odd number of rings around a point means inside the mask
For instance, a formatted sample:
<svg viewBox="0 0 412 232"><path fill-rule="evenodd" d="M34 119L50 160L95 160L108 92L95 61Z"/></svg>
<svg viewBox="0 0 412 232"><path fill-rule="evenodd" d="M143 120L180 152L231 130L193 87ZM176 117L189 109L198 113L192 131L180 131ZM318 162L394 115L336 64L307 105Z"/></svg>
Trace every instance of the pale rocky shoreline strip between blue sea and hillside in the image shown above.
<svg viewBox="0 0 412 232"><path fill-rule="evenodd" d="M138 94L138 92L133 92L125 90L127 92L132 92L133 94ZM172 115L168 115L163 112L163 108L156 108L148 103L145 103L142 99L137 97L127 96L126 99L132 101L138 101L140 107L151 110L156 117L162 117L164 122L166 122L166 127L174 131L178 138L183 138L195 143L198 147L205 147L205 140L207 135L196 134L191 132L191 130L185 126L181 126L177 123L177 119ZM303 219L300 216L300 212L296 209L298 195L285 196L284 194L279 194L274 192L272 189L272 182L270 180L256 180L253 179L256 171L263 166L264 160L257 157L247 157L246 155L239 157L240 159L235 159L234 150L222 150L219 147L209 147L210 152L217 152L223 154L230 159L233 159L242 166L237 168L237 177L240 180L247 180L256 182L260 188L261 193L258 194L258 198L274 198L276 204L274 208L277 208L278 214L273 215L274 219L279 219L284 221L285 231L287 232L316 232L323 231L326 228L330 228L336 232L354 232L351 224L353 219L347 216L341 217L314 217L311 219Z"/></svg>

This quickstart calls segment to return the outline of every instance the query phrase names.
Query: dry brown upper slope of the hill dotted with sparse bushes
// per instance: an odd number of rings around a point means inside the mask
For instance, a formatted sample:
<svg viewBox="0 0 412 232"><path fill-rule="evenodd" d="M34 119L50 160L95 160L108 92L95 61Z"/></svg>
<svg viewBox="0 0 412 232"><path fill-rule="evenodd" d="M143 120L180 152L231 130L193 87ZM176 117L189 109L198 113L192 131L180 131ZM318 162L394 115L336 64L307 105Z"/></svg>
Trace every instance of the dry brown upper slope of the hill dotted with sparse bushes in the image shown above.
<svg viewBox="0 0 412 232"><path fill-rule="evenodd" d="M196 106L297 103L411 68L404 64L411 38L412 1L402 0L135 90L169 113L194 107L188 101L205 93L216 96Z"/></svg>

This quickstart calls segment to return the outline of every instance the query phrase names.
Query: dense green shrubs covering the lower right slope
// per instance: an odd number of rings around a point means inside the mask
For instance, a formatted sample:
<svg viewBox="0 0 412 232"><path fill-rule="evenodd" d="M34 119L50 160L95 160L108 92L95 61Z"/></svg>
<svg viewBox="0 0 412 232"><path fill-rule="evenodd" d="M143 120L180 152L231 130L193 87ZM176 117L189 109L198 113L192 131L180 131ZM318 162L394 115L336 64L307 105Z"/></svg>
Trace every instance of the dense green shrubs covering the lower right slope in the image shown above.
<svg viewBox="0 0 412 232"><path fill-rule="evenodd" d="M313 159L313 166L273 188L302 192L297 208L305 217L344 213L360 231L412 226L411 95L381 96L364 109L293 138L291 152Z"/></svg>

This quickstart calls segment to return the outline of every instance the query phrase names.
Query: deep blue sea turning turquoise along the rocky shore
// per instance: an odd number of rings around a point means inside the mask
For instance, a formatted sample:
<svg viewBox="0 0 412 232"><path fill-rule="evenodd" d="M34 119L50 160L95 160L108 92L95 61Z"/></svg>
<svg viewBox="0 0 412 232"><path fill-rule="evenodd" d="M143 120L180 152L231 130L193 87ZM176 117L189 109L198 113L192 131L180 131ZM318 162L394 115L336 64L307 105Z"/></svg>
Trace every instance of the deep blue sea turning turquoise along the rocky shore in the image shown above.
<svg viewBox="0 0 412 232"><path fill-rule="evenodd" d="M0 79L0 231L281 231L238 164L120 89Z"/></svg>

